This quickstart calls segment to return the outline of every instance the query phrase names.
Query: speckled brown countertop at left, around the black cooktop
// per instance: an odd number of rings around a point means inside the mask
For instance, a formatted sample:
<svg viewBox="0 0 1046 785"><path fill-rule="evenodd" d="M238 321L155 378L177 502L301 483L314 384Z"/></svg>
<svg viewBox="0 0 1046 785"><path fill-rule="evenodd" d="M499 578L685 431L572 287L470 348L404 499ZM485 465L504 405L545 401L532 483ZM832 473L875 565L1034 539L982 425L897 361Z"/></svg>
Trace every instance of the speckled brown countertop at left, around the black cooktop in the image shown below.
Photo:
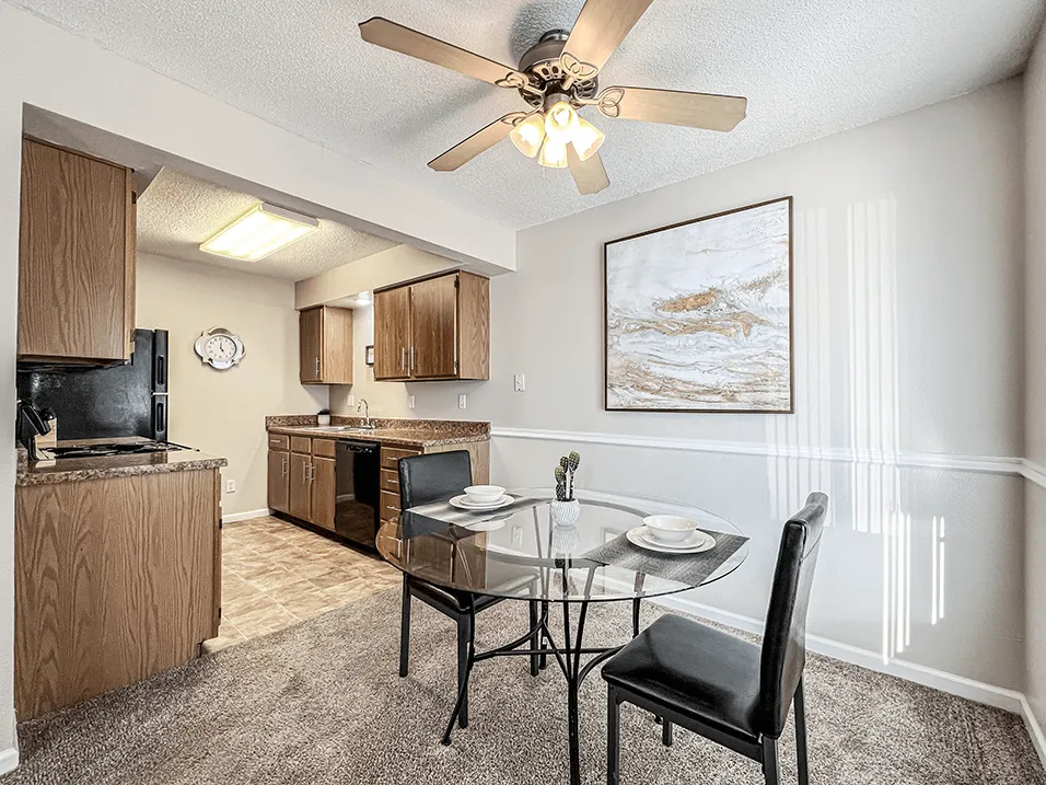
<svg viewBox="0 0 1046 785"><path fill-rule="evenodd" d="M97 440L95 440L97 441ZM103 441L117 441L104 439ZM123 441L123 440L120 440ZM144 439L143 441L148 441ZM72 447L84 441L59 441L59 447ZM15 485L46 485L77 483L84 480L130 477L138 474L164 472L194 472L220 469L228 461L197 450L151 452L138 455L100 455L97 458L66 458L60 461L30 461L25 448L19 448Z"/></svg>

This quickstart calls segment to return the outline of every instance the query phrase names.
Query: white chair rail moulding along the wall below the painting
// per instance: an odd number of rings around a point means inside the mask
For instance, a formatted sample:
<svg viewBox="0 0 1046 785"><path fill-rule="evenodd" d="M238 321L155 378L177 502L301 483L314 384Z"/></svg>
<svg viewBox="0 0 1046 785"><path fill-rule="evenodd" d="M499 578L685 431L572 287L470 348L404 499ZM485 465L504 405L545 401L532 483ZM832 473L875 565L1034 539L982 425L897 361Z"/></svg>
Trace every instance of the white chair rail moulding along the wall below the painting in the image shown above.
<svg viewBox="0 0 1046 785"><path fill-rule="evenodd" d="M1023 475L1026 461L1020 458L995 455L963 455L938 452L891 452L886 450L855 450L841 447L801 447L718 439L677 439L674 437L598 434L572 430L538 430L533 428L491 428L490 436L502 439L536 439L567 441L580 445L613 445L686 452L712 452L759 458L790 458L810 461L868 463L886 466L945 469L960 472ZM1046 480L1046 474L1043 475Z"/></svg>

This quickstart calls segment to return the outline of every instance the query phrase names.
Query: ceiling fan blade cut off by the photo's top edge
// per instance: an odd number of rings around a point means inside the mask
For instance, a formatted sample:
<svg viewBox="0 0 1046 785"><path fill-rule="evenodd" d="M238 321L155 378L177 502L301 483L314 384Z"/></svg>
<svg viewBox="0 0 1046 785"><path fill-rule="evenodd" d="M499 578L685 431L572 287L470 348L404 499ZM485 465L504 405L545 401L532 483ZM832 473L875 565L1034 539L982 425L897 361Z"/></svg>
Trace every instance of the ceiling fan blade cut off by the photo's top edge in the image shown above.
<svg viewBox="0 0 1046 785"><path fill-rule="evenodd" d="M651 2L585 0L559 57L559 65L568 74L563 86L598 73Z"/></svg>

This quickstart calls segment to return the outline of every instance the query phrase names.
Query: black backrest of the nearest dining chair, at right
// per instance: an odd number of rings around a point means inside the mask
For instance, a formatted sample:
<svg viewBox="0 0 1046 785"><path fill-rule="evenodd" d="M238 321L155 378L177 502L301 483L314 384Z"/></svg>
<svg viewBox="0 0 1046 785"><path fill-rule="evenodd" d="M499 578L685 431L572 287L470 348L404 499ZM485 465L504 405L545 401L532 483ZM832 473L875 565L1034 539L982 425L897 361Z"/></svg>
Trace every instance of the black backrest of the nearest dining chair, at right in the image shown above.
<svg viewBox="0 0 1046 785"><path fill-rule="evenodd" d="M759 729L771 739L785 729L806 662L806 609L827 506L827 496L811 494L781 533L759 673Z"/></svg>

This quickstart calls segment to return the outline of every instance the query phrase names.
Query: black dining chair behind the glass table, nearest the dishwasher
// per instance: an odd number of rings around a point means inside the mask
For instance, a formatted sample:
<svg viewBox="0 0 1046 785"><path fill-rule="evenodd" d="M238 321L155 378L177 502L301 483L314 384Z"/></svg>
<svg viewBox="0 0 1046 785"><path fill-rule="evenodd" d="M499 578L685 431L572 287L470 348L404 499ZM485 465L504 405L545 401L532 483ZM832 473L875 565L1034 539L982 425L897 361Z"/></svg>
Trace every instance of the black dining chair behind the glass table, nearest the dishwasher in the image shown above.
<svg viewBox="0 0 1046 785"><path fill-rule="evenodd" d="M445 501L473 484L472 458L466 450L433 452L425 455L411 455L399 459L399 509ZM457 624L457 689L462 689L468 668L468 640L472 637L473 613L485 611L503 597L476 594L469 591L437 586L427 580L415 578L406 573L403 576L403 613L399 621L399 676L406 677L410 657L410 598L416 597L440 613L450 616ZM538 603L528 603L530 628L534 631L531 648L537 649ZM531 658L531 676L537 676L539 661L536 655ZM462 703L457 724L468 727L468 696Z"/></svg>

